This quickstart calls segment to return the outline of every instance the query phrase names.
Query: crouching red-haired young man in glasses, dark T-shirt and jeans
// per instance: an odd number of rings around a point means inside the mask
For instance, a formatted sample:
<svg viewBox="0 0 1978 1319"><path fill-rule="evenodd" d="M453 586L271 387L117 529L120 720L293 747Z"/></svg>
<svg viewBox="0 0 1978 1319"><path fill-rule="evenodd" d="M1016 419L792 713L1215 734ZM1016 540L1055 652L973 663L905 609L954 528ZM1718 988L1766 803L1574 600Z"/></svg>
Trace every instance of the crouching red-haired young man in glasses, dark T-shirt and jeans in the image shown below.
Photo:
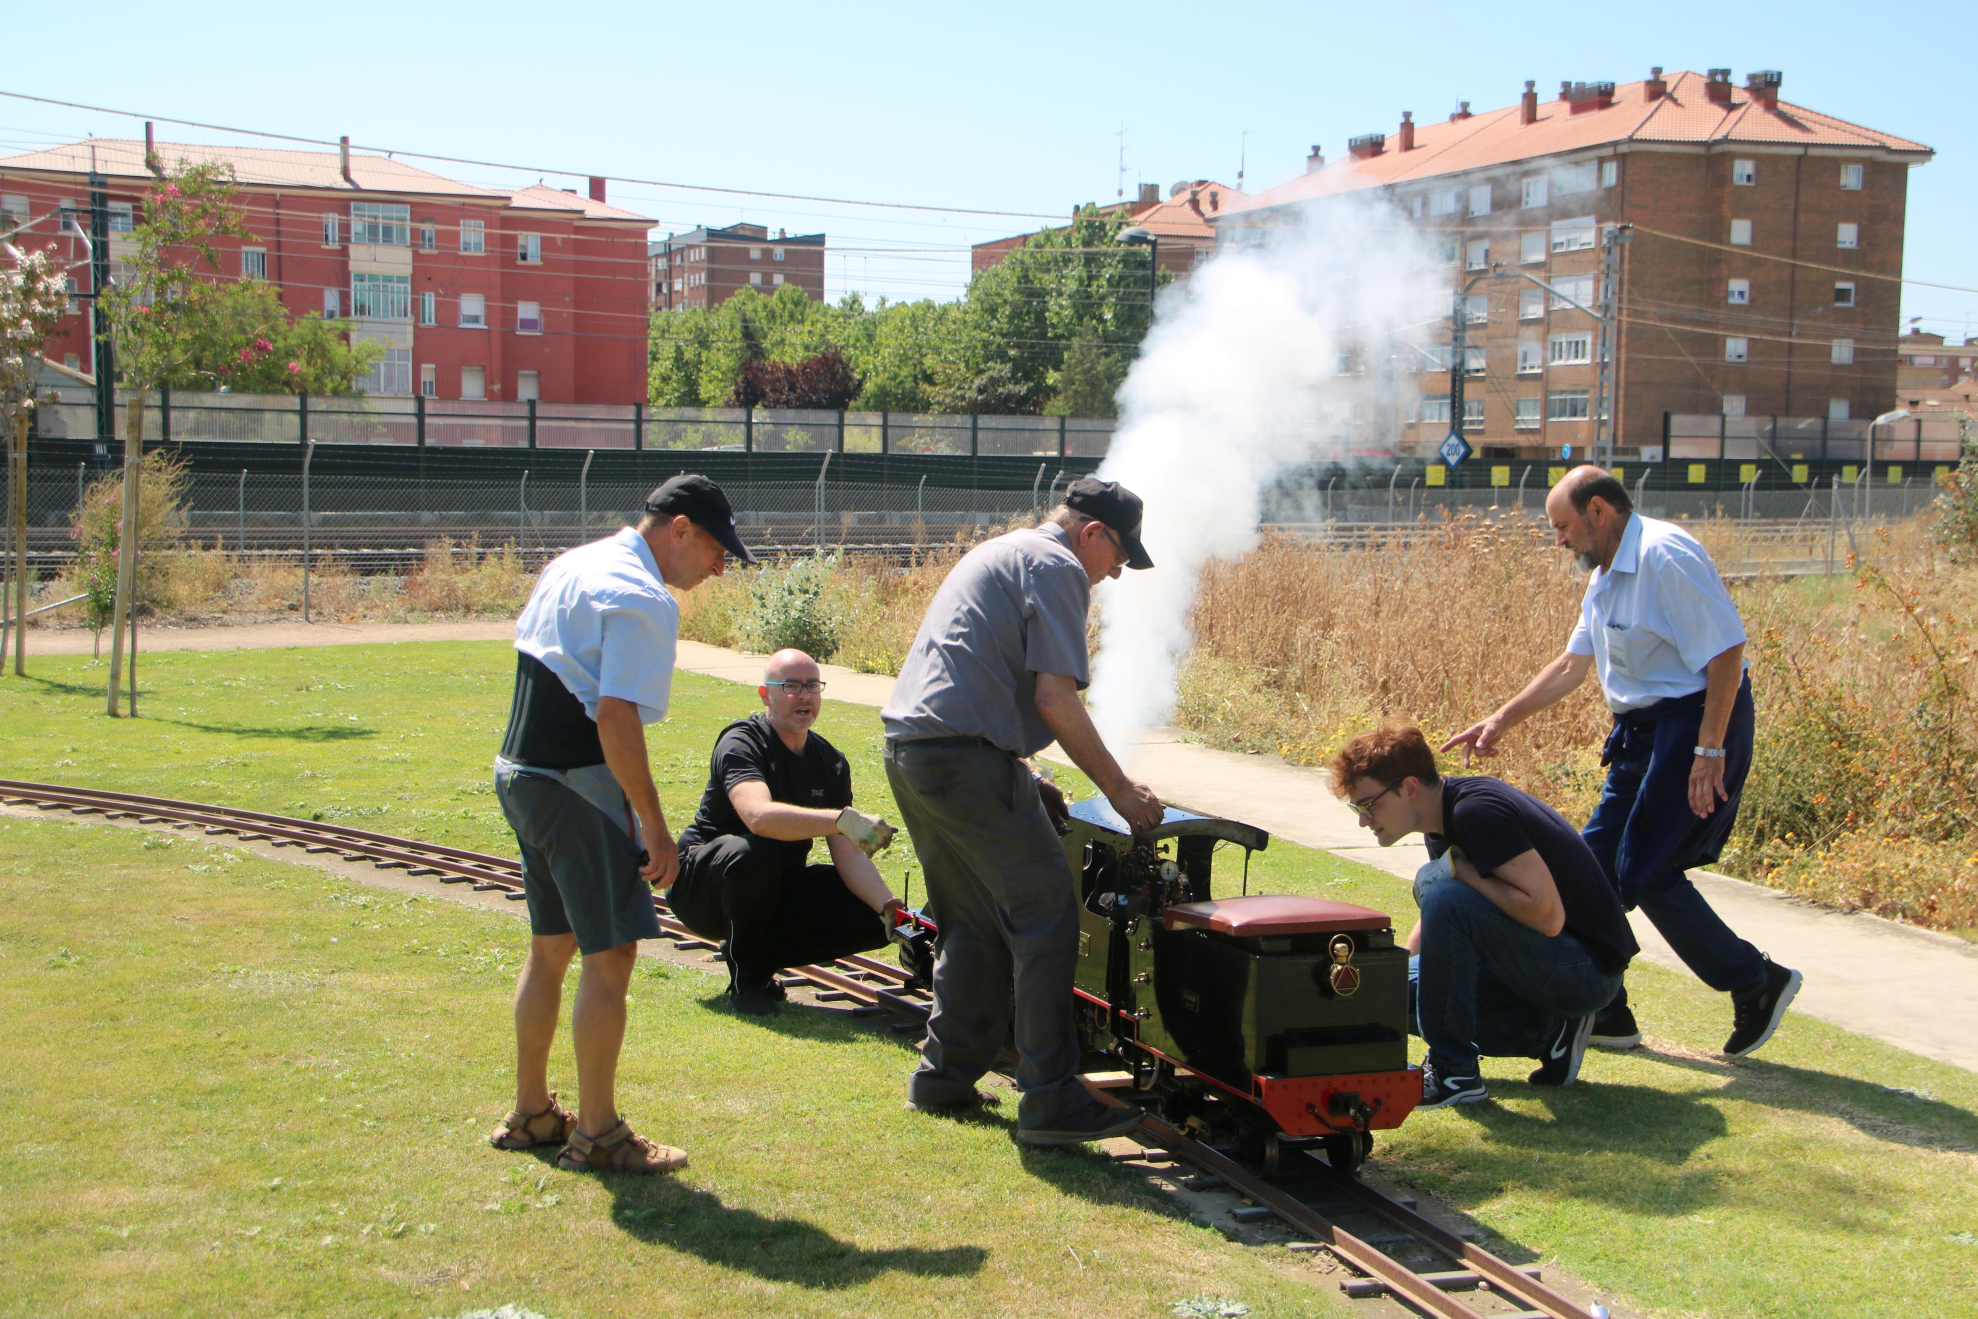
<svg viewBox="0 0 1978 1319"><path fill-rule="evenodd" d="M1537 1058L1533 1086L1571 1086L1594 1012L1640 951L1578 831L1499 779L1444 779L1418 728L1349 742L1333 791L1381 846L1410 833L1428 844L1414 876L1422 920L1406 941L1428 1044L1422 1107L1487 1098L1480 1054Z"/></svg>

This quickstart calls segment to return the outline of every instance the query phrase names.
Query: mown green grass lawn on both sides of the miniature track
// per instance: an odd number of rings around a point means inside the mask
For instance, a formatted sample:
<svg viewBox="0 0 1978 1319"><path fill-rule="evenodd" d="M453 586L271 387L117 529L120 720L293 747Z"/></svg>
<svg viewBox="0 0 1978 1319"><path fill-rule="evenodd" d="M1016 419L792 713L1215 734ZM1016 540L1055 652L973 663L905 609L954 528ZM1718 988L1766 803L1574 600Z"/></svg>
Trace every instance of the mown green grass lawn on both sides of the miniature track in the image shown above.
<svg viewBox="0 0 1978 1319"><path fill-rule="evenodd" d="M34 668L0 682L0 777L512 850L487 769L504 645L146 657L136 722L103 716L101 666ZM752 704L676 680L649 732L676 829ZM890 811L876 714L827 704L821 730ZM1260 888L1408 904L1286 844L1254 860ZM896 1038L736 1020L696 971L637 981L623 1074L627 1113L692 1151L682 1179L496 1153L481 1137L506 1109L524 945L506 914L57 821L0 823L0 1094L32 1115L0 1137L0 1313L1337 1307L1131 1173L1025 1155L1001 1119L902 1113ZM1523 1084L1531 1064L1487 1062L1493 1103L1422 1113L1375 1157L1652 1313L1978 1313L1978 1078L1806 1016L1729 1066L1717 995L1648 965L1630 989L1648 1050L1594 1054L1551 1094ZM860 1192L839 1198L847 1181Z"/></svg>

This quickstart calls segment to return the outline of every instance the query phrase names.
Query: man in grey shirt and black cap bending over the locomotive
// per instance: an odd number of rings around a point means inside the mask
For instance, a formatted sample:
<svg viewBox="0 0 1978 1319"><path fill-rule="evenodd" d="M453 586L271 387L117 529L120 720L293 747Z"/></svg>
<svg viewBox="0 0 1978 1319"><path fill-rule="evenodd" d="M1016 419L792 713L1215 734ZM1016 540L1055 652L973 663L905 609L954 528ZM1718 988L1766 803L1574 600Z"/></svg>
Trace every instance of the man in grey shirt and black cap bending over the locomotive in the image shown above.
<svg viewBox="0 0 1978 1319"><path fill-rule="evenodd" d="M1078 1084L1078 898L1054 827L1064 797L1025 763L1056 740L1133 829L1161 823L1159 799L1120 769L1078 698L1090 682L1092 587L1122 568L1153 568L1139 518L1139 496L1086 477L1042 526L975 546L928 605L880 714L886 779L940 925L934 1014L908 1101L924 1111L993 1101L975 1082L1015 1024L1027 1145L1098 1141L1141 1117Z"/></svg>

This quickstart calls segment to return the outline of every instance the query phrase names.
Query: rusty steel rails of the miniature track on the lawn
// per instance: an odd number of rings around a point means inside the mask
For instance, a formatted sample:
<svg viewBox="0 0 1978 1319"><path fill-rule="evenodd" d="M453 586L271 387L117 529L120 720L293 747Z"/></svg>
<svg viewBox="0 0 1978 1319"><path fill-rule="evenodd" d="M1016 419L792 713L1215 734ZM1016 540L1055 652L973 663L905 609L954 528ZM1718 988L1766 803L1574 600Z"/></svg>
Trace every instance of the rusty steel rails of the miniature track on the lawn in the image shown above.
<svg viewBox="0 0 1978 1319"><path fill-rule="evenodd" d="M275 846L313 846L320 850L334 850L354 860L372 860L386 866L407 866L423 874L437 874L441 882L473 880L475 888L502 890L506 898L522 896L522 868L512 858L473 852L439 842L419 842L415 838L380 835L366 829L348 829L344 825L324 821L299 821L285 815L239 811L233 807L214 807L194 801L174 801L170 797L144 797L136 793L67 787L57 783L30 783L20 779L0 779L0 803L65 807L75 813L105 815L107 819L190 825L200 827L210 835L229 833L243 840L265 838ZM680 945L714 947L710 939L696 935L680 923L678 918L673 916L667 902L657 894L653 896L653 908L659 914L659 925L665 937L674 939ZM920 991L912 987L912 977L906 971L860 953L841 957L833 965L789 967L787 975L793 975L797 981L813 985L819 991L853 999L868 1011L894 1012L914 1022L924 1022L930 1012L928 1003L914 997L920 995ZM1135 1155L1135 1159L1179 1159L1195 1165L1203 1173L1220 1179L1254 1204L1268 1208L1286 1224L1309 1234L1339 1260L1367 1274L1369 1279L1377 1279L1387 1291L1393 1291L1410 1305L1416 1305L1424 1313L1436 1315L1438 1319L1517 1319L1515 1315L1484 1315L1444 1291L1446 1285L1460 1285L1472 1277L1487 1281L1489 1287L1505 1299L1531 1305L1533 1309L1521 1311L1523 1315L1539 1315L1543 1319L1592 1319L1590 1311L1543 1285L1519 1266L1493 1256L1474 1242L1466 1242L1448 1228L1442 1228L1406 1204L1381 1194L1373 1187L1353 1177L1335 1173L1329 1163L1313 1157L1309 1151L1298 1151L1302 1171L1317 1177L1323 1187L1337 1190L1345 1196L1345 1200L1357 1204L1363 1212L1385 1218L1408 1236L1448 1256L1452 1262L1464 1266L1464 1270L1432 1274L1410 1270L1406 1264L1394 1260L1373 1242L1341 1228L1311 1204L1298 1200L1218 1149L1185 1135L1151 1113L1133 1129L1133 1139L1139 1139L1141 1145L1147 1147L1141 1155ZM1353 1289L1359 1283L1349 1281L1341 1285Z"/></svg>

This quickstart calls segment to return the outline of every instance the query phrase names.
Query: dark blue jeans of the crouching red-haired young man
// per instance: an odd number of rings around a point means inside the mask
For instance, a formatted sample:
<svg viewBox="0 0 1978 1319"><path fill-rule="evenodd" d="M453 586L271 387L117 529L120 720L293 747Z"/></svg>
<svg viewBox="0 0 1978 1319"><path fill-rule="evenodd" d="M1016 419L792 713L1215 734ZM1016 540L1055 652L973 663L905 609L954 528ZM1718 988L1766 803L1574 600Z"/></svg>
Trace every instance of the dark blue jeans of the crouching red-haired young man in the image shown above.
<svg viewBox="0 0 1978 1319"><path fill-rule="evenodd" d="M1476 1076L1478 1054L1539 1058L1561 1018L1620 991L1571 933L1543 935L1458 880L1448 858L1414 876L1422 951L1408 959L1414 1032L1438 1076Z"/></svg>

